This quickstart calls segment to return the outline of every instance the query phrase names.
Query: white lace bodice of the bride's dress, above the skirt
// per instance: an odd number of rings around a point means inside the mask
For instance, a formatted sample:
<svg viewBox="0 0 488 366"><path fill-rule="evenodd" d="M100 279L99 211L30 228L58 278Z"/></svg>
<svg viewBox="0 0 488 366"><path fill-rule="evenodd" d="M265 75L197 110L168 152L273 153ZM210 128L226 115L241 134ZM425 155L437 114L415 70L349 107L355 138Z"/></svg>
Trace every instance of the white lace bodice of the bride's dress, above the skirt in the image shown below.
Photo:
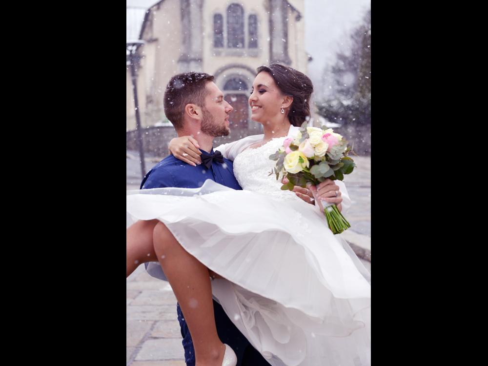
<svg viewBox="0 0 488 366"><path fill-rule="evenodd" d="M276 166L269 156L282 147L284 141L285 137L273 139L257 149L248 148L237 156L234 175L244 190L263 193L278 200L301 201L295 193L281 190L283 184L276 180L275 174L269 176Z"/></svg>

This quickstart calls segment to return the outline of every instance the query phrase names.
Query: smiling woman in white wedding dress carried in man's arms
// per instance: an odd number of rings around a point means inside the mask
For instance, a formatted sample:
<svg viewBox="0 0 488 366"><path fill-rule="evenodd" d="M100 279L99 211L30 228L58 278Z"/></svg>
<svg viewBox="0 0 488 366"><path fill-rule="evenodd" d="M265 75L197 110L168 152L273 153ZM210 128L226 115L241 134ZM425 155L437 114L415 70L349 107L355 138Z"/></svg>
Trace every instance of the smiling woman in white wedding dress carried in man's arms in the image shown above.
<svg viewBox="0 0 488 366"><path fill-rule="evenodd" d="M264 136L221 147L244 191L207 181L201 189L127 192L128 213L145 220L127 229L127 245L160 262L190 328L196 365L226 362L212 294L273 366L371 364L370 275L323 214L268 176L269 156L310 116L312 91L296 70L258 69L249 103ZM325 201L337 200L333 184L319 186ZM132 257L140 253L127 251L127 263Z"/></svg>

